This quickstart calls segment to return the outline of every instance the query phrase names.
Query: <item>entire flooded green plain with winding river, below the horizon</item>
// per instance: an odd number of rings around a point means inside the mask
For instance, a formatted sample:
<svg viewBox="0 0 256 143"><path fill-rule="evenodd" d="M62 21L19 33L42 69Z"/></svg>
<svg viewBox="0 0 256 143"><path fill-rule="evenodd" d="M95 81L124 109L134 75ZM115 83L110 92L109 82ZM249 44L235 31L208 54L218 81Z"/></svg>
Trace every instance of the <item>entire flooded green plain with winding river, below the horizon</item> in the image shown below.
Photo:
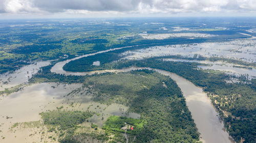
<svg viewBox="0 0 256 143"><path fill-rule="evenodd" d="M2 25L0 142L255 142L253 27L183 20Z"/></svg>

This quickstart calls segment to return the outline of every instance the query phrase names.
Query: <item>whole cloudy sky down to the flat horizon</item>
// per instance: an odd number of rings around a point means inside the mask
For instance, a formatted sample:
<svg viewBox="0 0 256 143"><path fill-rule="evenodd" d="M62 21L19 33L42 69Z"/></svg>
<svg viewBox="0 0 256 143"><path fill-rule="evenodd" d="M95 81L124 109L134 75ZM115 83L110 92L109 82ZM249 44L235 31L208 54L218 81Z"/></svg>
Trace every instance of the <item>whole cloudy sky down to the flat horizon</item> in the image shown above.
<svg viewBox="0 0 256 143"><path fill-rule="evenodd" d="M0 18L256 16L256 0L0 0Z"/></svg>

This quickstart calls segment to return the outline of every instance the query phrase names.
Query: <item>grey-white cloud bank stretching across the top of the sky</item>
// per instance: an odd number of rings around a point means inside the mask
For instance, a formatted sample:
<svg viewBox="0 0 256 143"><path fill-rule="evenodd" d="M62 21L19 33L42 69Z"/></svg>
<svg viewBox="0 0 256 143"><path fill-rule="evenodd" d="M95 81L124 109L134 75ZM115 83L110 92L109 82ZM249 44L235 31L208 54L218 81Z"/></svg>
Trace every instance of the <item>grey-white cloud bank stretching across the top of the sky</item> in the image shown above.
<svg viewBox="0 0 256 143"><path fill-rule="evenodd" d="M0 0L0 13L255 12L255 0Z"/></svg>

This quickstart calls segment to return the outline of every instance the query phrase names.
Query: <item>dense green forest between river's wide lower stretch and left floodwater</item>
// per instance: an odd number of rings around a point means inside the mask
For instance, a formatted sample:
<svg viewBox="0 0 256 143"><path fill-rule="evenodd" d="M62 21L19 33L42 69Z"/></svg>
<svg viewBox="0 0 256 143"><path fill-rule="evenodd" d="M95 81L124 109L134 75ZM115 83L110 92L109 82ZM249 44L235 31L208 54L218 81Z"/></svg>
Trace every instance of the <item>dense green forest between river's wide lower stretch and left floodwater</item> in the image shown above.
<svg viewBox="0 0 256 143"><path fill-rule="evenodd" d="M142 70L95 75L86 81L99 92L95 101L126 104L146 121L143 128L136 131L135 142L196 142L199 139L185 99L172 79Z"/></svg>

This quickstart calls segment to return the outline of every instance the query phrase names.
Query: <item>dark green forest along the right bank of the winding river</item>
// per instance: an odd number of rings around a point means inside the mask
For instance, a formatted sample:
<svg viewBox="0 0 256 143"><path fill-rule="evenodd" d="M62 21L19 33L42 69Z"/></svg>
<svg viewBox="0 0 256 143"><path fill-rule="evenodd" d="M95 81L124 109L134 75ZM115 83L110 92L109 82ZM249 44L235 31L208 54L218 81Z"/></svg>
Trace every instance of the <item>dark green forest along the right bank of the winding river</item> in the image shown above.
<svg viewBox="0 0 256 143"><path fill-rule="evenodd" d="M77 71L83 71L83 68L79 69L79 65L84 64L81 61L77 60L77 63L72 63L74 67L78 67ZM74 64L78 64L78 66ZM234 140L239 141L242 137L245 139L244 142L254 142L256 139L256 130L254 128L256 126L255 79L247 80L240 77L241 82L248 81L250 83L227 83L225 79L230 79L232 76L213 70L199 70L197 69L198 65L201 64L167 62L161 61L159 58L151 58L139 61L107 63L98 67L91 66L89 69L122 69L136 66L151 67L176 73L202 87L208 93L212 104L219 110L221 118L225 122L225 127ZM73 71L72 68L68 69L68 66L66 66L65 70Z"/></svg>

